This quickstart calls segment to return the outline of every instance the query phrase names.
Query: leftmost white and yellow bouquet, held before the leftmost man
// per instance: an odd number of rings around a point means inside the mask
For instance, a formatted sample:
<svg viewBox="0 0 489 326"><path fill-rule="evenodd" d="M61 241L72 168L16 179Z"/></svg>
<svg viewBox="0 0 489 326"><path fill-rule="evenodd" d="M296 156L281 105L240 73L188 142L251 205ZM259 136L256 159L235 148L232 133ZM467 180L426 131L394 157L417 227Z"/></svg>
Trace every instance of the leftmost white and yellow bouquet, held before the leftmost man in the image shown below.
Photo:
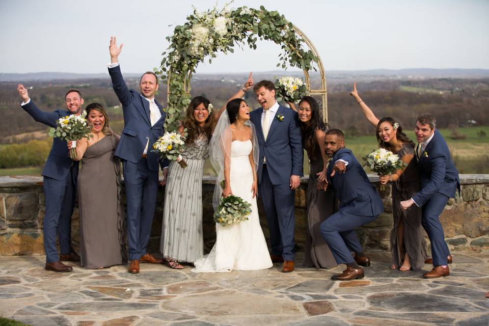
<svg viewBox="0 0 489 326"><path fill-rule="evenodd" d="M49 128L49 136L71 141L70 158L76 157L76 141L82 138L93 138L91 134L92 127L88 125L87 111L82 112L79 116L69 115L56 121L56 128Z"/></svg>

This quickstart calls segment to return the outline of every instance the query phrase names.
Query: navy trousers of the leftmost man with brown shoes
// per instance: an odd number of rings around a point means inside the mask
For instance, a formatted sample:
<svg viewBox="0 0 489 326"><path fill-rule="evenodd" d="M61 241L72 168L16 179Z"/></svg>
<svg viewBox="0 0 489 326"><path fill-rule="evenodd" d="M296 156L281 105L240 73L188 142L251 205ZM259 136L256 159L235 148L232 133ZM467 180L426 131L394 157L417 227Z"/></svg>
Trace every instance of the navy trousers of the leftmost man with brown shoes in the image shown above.
<svg viewBox="0 0 489 326"><path fill-rule="evenodd" d="M75 206L76 182L73 168L64 180L43 177L43 189L46 211L44 213L44 251L46 263L60 260L56 248L56 235L63 255L74 252L71 247L71 215Z"/></svg>

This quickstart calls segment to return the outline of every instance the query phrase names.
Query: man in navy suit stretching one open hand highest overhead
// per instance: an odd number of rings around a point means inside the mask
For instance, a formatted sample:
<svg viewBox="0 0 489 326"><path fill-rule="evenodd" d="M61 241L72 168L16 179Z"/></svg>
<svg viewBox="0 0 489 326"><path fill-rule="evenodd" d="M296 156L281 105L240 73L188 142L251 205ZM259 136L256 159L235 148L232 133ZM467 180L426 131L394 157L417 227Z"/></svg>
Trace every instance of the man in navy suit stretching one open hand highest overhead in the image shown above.
<svg viewBox="0 0 489 326"><path fill-rule="evenodd" d="M156 102L158 78L145 72L140 80L140 92L130 90L122 77L117 46L111 37L109 52L111 63L108 73L112 87L122 104L124 129L114 155L122 160L127 200L127 242L129 247L129 273L139 273L139 263L161 264L163 260L146 252L153 222L158 193L159 155L152 152L154 142L164 133L165 112ZM168 161L162 162L166 179Z"/></svg>

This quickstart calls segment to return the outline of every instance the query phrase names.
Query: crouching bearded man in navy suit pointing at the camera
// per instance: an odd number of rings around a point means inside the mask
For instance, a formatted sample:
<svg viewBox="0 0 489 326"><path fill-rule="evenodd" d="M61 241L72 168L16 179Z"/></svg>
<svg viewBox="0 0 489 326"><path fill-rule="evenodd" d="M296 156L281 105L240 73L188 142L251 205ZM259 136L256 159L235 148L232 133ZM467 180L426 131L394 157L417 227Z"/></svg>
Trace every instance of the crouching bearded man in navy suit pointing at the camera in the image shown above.
<svg viewBox="0 0 489 326"><path fill-rule="evenodd" d="M382 199L353 153L345 148L341 130L331 129L324 138L328 164L327 186L340 200L338 211L321 223L321 234L335 257L346 269L332 280L347 281L364 277L362 266L369 266L354 229L374 221L384 211ZM355 257L351 256L355 252Z"/></svg>

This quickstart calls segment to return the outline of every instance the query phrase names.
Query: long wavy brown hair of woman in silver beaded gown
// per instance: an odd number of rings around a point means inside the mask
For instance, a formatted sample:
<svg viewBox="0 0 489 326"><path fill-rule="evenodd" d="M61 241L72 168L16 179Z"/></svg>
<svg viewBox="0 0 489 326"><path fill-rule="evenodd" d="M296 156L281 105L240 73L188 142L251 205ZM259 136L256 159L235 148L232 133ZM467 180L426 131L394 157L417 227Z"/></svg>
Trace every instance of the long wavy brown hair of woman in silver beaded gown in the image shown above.
<svg viewBox="0 0 489 326"><path fill-rule="evenodd" d="M214 115L210 113L209 117L205 120L203 126L199 126L194 118L194 110L200 104L204 104L207 110L209 110L210 101L204 96L196 96L192 99L190 104L188 104L187 113L182 122L183 127L187 128L187 138L185 139L185 145L193 144L201 134L205 134L207 136L207 142L210 142L210 138L212 137Z"/></svg>

